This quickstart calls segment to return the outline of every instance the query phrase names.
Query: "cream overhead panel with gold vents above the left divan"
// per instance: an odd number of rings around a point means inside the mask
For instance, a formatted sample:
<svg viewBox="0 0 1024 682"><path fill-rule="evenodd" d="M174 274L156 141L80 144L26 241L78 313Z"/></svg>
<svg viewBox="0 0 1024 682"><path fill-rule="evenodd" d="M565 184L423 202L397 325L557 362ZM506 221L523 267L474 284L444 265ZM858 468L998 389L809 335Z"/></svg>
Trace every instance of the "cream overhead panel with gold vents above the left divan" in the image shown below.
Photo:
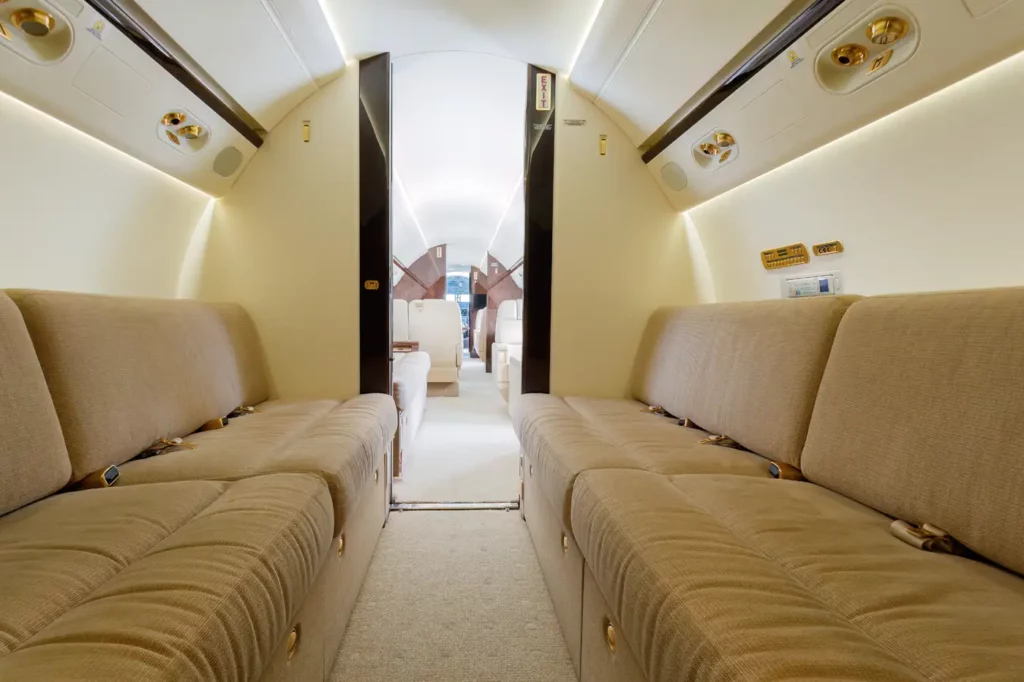
<svg viewBox="0 0 1024 682"><path fill-rule="evenodd" d="M0 6L10 37L0 39L0 90L213 196L224 194L255 154L241 132L86 3ZM29 9L46 16L12 19Z"/></svg>

